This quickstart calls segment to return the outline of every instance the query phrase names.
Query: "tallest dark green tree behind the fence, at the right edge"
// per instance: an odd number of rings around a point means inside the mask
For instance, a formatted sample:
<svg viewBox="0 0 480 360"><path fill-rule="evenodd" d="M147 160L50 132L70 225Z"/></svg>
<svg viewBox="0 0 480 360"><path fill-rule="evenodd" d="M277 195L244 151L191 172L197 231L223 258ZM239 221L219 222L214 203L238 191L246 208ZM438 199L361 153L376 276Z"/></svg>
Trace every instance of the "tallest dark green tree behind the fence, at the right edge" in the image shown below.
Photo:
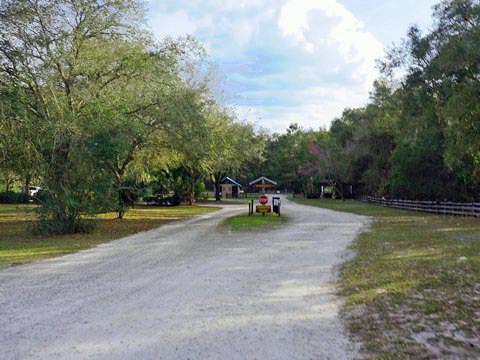
<svg viewBox="0 0 480 360"><path fill-rule="evenodd" d="M480 4L443 1L435 20L429 34L412 28L407 48L398 52L405 61L390 63L403 63L407 71L399 91L402 133L395 159L403 169L410 161L409 171L415 173L408 196L478 199ZM394 177L395 186L399 177Z"/></svg>

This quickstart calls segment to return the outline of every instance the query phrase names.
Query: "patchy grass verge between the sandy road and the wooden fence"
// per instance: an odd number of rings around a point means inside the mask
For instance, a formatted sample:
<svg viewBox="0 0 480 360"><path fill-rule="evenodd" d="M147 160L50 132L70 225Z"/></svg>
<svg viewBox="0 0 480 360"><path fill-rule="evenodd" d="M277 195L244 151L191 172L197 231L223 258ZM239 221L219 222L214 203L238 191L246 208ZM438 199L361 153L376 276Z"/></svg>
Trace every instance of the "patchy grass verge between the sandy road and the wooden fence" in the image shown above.
<svg viewBox="0 0 480 360"><path fill-rule="evenodd" d="M480 353L480 220L348 200L301 204L373 217L341 269L351 332L367 356L475 358Z"/></svg>

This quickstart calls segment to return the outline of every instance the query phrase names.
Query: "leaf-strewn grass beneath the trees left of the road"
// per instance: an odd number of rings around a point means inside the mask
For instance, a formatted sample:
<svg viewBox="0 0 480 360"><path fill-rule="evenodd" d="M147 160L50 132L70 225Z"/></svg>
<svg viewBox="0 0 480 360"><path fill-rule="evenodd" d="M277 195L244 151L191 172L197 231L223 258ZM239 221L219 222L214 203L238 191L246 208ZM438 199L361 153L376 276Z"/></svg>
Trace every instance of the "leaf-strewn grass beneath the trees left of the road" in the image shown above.
<svg viewBox="0 0 480 360"><path fill-rule="evenodd" d="M123 220L115 219L113 213L98 216L98 226L91 234L34 236L28 231L35 219L35 215L28 211L32 207L0 205L0 268L74 253L174 220L216 210L205 206L139 206L129 210Z"/></svg>

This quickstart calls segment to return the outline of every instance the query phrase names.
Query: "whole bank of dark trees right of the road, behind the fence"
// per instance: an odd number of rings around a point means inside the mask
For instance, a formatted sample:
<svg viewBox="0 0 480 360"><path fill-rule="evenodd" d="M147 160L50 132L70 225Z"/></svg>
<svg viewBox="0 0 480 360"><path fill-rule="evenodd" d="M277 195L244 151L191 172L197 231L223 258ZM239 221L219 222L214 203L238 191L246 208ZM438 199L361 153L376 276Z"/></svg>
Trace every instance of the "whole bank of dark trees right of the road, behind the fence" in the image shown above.
<svg viewBox="0 0 480 360"><path fill-rule="evenodd" d="M330 130L295 124L267 149L266 175L285 188L418 200L478 200L480 193L480 3L443 1L435 26L408 31L379 61L370 103L345 110Z"/></svg>

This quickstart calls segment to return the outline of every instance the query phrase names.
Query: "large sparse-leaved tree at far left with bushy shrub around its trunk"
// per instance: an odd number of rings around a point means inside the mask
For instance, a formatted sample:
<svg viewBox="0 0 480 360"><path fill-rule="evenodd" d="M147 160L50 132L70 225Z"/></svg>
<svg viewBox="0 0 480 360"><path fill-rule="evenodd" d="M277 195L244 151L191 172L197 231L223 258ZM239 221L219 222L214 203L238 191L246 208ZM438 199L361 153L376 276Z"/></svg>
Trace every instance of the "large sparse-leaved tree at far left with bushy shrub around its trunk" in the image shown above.
<svg viewBox="0 0 480 360"><path fill-rule="evenodd" d="M134 64L145 57L140 13L133 0L0 7L2 93L19 95L0 99L2 127L22 143L7 146L10 164L4 164L41 175L48 195L39 226L48 232L87 230L81 216L109 207L111 180L90 145L102 125L124 114L123 108L112 113L119 96L111 89L137 75Z"/></svg>

